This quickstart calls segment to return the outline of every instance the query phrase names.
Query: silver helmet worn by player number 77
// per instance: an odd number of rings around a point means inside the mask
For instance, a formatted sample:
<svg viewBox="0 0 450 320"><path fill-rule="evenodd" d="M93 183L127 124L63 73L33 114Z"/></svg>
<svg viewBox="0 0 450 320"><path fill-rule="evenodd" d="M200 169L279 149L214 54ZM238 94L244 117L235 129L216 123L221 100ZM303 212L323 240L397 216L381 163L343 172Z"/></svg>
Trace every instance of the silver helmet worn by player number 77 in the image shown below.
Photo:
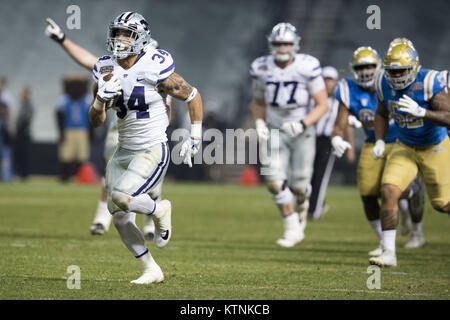
<svg viewBox="0 0 450 320"><path fill-rule="evenodd" d="M280 22L273 27L272 32L267 37L270 54L274 56L276 61L288 61L300 49L300 39L297 29L292 24ZM282 47L279 44L290 44L292 46Z"/></svg>

